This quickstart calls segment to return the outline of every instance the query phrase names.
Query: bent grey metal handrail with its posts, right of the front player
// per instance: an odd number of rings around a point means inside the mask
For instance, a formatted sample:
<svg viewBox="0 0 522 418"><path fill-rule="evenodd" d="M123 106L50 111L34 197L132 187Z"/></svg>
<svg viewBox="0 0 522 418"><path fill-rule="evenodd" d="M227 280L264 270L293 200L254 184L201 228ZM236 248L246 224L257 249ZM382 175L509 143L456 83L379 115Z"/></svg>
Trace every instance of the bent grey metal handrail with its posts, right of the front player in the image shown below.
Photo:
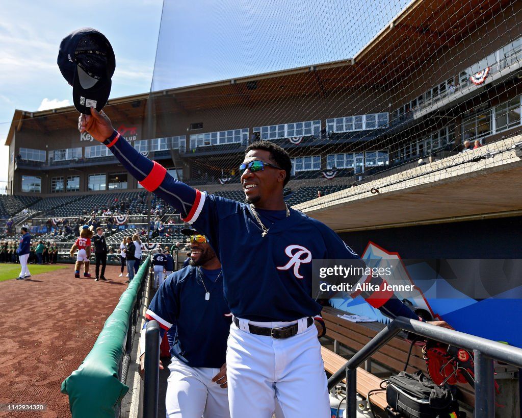
<svg viewBox="0 0 522 418"><path fill-rule="evenodd" d="M357 414L357 367L386 345L400 331L422 335L430 340L472 351L475 363L474 416L494 418L493 359L520 368L522 367L522 349L405 317L397 317L390 322L386 328L375 335L371 341L328 379L328 390L331 390L346 377L347 413L349 418L355 418Z"/></svg>

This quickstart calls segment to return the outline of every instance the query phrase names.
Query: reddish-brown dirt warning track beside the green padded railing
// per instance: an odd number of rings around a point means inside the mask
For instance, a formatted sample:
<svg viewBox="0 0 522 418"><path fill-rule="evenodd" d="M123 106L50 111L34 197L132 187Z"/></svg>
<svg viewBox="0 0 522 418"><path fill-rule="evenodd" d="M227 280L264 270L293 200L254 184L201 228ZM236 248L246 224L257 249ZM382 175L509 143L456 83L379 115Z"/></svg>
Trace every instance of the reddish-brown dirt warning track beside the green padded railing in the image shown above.
<svg viewBox="0 0 522 418"><path fill-rule="evenodd" d="M0 283L0 404L46 404L44 412L0 416L70 416L60 386L89 353L127 288L127 278L119 274L120 266L108 265L106 282L74 278L71 264Z"/></svg>

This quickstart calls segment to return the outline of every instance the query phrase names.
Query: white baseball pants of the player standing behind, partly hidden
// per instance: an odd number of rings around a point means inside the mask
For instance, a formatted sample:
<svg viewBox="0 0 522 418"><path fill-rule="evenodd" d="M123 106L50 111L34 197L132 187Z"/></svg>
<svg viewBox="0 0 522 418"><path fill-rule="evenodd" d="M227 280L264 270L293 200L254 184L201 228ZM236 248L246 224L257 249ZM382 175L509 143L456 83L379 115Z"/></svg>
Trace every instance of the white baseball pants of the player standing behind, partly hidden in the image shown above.
<svg viewBox="0 0 522 418"><path fill-rule="evenodd" d="M218 368L190 367L172 357L169 370L165 396L168 418L230 418L228 390L211 381Z"/></svg>

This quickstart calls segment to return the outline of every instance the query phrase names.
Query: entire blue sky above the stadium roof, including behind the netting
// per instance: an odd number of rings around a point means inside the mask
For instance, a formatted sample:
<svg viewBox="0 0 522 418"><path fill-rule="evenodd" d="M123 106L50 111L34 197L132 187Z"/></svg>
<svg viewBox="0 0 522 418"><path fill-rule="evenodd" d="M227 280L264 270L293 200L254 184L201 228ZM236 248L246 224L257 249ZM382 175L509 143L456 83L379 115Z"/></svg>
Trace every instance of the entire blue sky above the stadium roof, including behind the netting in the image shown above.
<svg viewBox="0 0 522 418"><path fill-rule="evenodd" d="M72 103L72 88L58 70L56 55L62 38L74 29L91 26L110 40L116 55L114 98L149 91L152 79L159 90L347 59L406 4L167 0L163 8L162 0L6 3L0 21L0 161L8 160L3 144L15 109ZM7 180L7 164L1 167L0 181Z"/></svg>

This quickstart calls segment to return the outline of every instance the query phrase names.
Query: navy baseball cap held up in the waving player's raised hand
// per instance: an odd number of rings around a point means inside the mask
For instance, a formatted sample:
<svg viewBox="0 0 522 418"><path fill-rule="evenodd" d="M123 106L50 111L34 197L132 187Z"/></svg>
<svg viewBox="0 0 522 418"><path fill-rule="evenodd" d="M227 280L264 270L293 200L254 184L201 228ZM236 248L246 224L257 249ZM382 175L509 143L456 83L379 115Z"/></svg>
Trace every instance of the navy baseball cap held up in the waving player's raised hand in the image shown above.
<svg viewBox="0 0 522 418"><path fill-rule="evenodd" d="M81 28L69 33L60 44L57 59L60 72L73 86L74 106L80 113L100 111L111 93L116 59L103 33Z"/></svg>

